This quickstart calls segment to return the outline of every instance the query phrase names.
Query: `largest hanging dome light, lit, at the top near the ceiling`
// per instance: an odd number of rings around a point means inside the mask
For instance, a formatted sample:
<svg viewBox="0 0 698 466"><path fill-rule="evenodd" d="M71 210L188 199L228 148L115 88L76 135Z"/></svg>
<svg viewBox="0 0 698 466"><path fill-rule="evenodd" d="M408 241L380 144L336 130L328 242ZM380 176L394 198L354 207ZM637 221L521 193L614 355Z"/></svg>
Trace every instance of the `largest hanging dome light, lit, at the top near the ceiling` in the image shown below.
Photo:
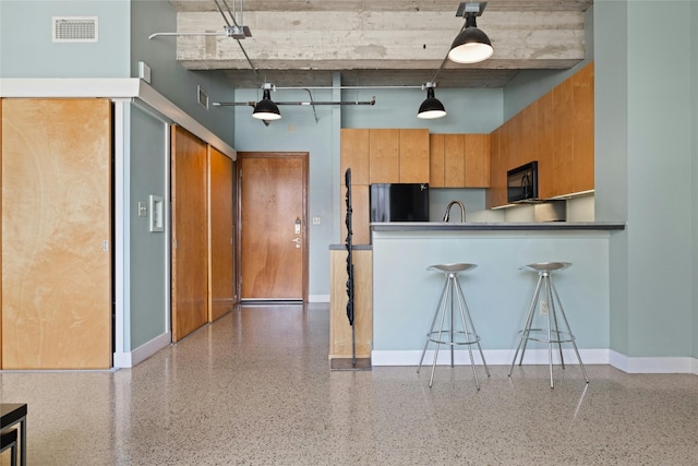
<svg viewBox="0 0 698 466"><path fill-rule="evenodd" d="M456 63L479 63L492 57L492 43L476 24L476 17L482 15L486 4L486 1L460 3L456 16L465 16L466 24L450 46L449 60Z"/></svg>

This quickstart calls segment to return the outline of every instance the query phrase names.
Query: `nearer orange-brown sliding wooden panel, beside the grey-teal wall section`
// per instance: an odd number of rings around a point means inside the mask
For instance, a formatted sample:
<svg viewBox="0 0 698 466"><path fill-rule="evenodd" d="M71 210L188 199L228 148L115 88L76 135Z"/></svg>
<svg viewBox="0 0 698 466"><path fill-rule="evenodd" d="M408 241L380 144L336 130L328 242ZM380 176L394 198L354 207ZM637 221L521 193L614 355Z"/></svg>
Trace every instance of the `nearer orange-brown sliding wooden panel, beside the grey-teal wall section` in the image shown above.
<svg viewBox="0 0 698 466"><path fill-rule="evenodd" d="M208 321L206 144L172 127L172 340Z"/></svg>

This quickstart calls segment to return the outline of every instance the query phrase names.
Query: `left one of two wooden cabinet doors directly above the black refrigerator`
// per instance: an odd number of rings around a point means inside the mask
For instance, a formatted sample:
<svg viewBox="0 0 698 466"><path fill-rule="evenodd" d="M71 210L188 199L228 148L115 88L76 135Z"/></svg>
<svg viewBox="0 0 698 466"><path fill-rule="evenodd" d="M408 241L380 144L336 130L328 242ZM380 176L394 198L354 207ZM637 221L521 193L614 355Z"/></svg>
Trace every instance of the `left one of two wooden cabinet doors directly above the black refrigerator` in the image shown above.
<svg viewBox="0 0 698 466"><path fill-rule="evenodd" d="M369 132L369 183L400 181L400 130L376 129ZM354 181L356 182L356 181Z"/></svg>

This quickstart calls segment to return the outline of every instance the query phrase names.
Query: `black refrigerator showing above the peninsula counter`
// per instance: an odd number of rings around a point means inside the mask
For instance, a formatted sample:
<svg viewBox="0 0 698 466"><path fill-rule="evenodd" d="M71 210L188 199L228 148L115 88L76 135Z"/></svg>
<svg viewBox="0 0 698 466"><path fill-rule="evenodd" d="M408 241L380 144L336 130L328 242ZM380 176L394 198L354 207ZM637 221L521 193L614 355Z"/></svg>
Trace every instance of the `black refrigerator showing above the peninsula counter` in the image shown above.
<svg viewBox="0 0 698 466"><path fill-rule="evenodd" d="M429 222L429 183L378 183L370 190L371 222Z"/></svg>

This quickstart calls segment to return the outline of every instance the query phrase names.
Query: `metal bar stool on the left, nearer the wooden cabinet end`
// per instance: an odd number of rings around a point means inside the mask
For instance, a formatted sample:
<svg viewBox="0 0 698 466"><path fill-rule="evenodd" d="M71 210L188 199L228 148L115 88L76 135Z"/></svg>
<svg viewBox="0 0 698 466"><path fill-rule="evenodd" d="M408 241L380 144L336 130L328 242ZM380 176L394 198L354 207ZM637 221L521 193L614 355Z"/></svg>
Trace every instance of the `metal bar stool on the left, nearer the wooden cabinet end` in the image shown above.
<svg viewBox="0 0 698 466"><path fill-rule="evenodd" d="M432 362L432 375L429 379L430 387L434 382L434 370L436 369L436 359L438 357L438 348L441 345L448 345L450 347L452 368L454 367L455 346L468 346L468 354L470 355L470 366L472 366L472 373L476 378L476 386L478 387L478 390L480 390L478 371L476 369L476 360L472 355L472 345L477 345L478 350L480 351L480 357L482 358L482 363L484 365L484 370L488 377L490 377L490 369L488 368L488 363L484 360L484 355L482 354L482 347L480 346L480 336L478 336L478 334L476 333L476 327L472 324L472 319L470 316L470 310L468 309L468 304L466 303L466 297L464 296L462 289L460 288L460 283L458 282L459 272L464 272L474 267L477 267L476 264L438 264L426 267L428 271L437 271L446 276L446 282L444 283L444 288L442 289L441 298L438 299L438 304L436 306L436 311L434 312L434 318L432 319L432 326L426 334L424 350L422 351L422 357L420 358L419 367L417 368L417 373L419 373L420 369L422 368L422 362L424 361L424 355L426 354L429 344L435 343L436 347L434 350L434 361ZM455 313L456 304L458 307L460 324L458 324L458 315L456 315ZM434 330L437 320L438 328ZM457 325L460 326L457 327Z"/></svg>

